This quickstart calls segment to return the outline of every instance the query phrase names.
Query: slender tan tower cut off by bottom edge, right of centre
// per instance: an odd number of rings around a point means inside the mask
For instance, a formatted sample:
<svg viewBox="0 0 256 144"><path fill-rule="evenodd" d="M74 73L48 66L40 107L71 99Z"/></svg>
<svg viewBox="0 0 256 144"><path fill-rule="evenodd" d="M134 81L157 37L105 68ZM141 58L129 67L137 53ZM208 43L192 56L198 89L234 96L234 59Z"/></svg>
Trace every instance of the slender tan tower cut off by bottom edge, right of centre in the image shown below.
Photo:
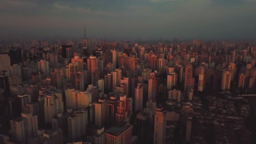
<svg viewBox="0 0 256 144"><path fill-rule="evenodd" d="M154 144L165 143L166 140L166 112L160 107L156 107L154 124Z"/></svg>

